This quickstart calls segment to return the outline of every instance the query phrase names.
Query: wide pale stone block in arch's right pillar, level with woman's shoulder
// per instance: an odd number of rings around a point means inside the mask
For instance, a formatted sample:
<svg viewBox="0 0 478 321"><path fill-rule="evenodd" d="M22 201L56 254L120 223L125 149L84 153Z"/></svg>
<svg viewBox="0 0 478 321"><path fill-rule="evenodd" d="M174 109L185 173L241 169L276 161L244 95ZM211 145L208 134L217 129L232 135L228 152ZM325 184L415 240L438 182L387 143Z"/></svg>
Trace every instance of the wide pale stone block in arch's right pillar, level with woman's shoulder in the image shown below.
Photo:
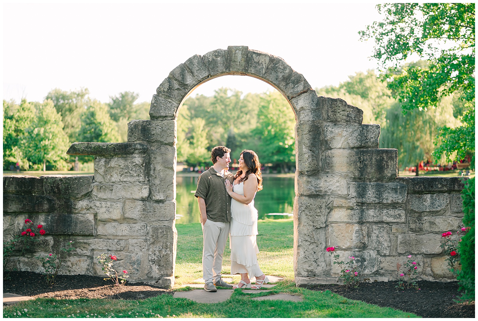
<svg viewBox="0 0 478 321"><path fill-rule="evenodd" d="M296 174L296 195L347 195L348 182L337 174L308 176Z"/></svg>

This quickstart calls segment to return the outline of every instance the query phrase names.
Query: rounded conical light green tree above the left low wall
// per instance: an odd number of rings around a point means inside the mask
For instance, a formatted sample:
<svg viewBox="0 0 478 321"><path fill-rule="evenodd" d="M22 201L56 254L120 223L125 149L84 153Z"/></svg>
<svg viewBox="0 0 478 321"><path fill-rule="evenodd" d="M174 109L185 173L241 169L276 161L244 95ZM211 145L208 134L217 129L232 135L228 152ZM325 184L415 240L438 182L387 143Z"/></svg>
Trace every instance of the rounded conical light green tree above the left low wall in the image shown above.
<svg viewBox="0 0 478 321"><path fill-rule="evenodd" d="M69 166L65 162L68 158L68 143L61 116L56 112L53 101L37 103L35 120L25 129L20 143L24 146L28 159L36 165L43 164L43 171L46 170L47 162L54 169L68 169Z"/></svg>

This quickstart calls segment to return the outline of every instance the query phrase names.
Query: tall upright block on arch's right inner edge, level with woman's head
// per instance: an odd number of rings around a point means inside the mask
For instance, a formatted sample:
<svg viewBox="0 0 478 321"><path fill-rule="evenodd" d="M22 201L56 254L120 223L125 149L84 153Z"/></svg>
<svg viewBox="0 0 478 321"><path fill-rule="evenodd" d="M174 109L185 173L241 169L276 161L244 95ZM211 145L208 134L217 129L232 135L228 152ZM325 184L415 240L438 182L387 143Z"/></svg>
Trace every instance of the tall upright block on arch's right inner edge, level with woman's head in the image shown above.
<svg viewBox="0 0 478 321"><path fill-rule="evenodd" d="M321 169L323 150L323 128L316 122L300 122L295 125L295 148L297 170L317 171Z"/></svg>

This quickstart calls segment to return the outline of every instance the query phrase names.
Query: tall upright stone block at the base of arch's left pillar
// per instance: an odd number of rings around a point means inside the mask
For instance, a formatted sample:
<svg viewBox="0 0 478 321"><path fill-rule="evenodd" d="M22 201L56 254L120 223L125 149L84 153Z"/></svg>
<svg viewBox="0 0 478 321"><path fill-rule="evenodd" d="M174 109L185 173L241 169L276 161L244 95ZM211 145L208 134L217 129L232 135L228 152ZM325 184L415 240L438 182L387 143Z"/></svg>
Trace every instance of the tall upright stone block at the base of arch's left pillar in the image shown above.
<svg viewBox="0 0 478 321"><path fill-rule="evenodd" d="M174 226L152 225L150 227L148 277L173 276L176 240L177 231Z"/></svg>

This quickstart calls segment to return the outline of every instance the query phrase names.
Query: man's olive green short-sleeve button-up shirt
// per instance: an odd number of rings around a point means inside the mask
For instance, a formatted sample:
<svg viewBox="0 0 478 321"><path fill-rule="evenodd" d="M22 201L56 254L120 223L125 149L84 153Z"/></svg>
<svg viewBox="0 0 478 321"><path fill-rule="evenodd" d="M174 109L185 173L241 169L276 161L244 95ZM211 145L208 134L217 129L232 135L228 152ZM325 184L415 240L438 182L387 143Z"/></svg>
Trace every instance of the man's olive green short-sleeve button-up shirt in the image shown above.
<svg viewBox="0 0 478 321"><path fill-rule="evenodd" d="M197 189L194 196L204 199L208 220L214 222L231 221L231 197L224 184L226 179L232 184L234 175L226 171L223 178L212 166L197 179Z"/></svg>

